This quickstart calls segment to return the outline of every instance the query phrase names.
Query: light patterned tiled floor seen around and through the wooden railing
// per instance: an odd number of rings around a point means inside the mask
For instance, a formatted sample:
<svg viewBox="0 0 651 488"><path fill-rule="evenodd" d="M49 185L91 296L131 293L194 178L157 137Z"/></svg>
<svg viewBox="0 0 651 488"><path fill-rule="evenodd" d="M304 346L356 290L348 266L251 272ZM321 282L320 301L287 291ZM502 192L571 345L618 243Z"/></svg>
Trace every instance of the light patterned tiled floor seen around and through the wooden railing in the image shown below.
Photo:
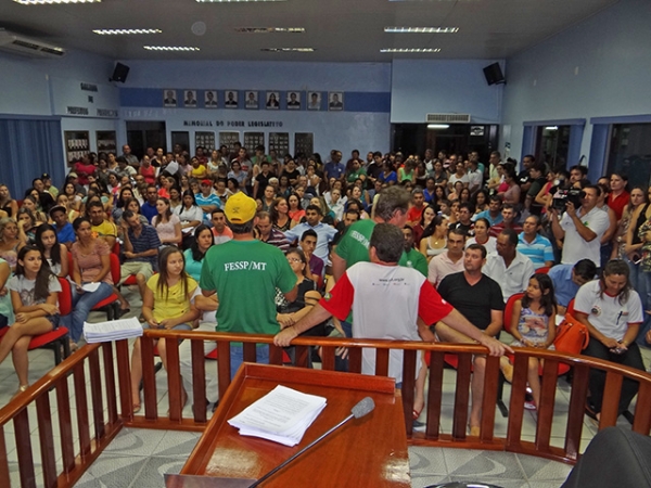
<svg viewBox="0 0 651 488"><path fill-rule="evenodd" d="M135 292L135 290L131 290L127 295L131 301L131 313L129 317L137 317L140 313L140 300L137 292ZM105 320L101 314L91 317L91 320L93 319ZM642 356L644 357L646 364L649 365L651 363L651 350L643 349ZM52 352L49 350L30 351L29 361L29 381L34 383L52 368ZM72 382L72 378L69 381ZM456 373L451 370L446 370L444 372L442 418L442 431L445 433L451 432L455 381ZM164 373L156 375L156 383L158 386L158 412L164 415L168 408L167 383ZM0 408L7 404L16 388L16 376L11 360L8 358L7 361L0 364ZM510 388L509 385L506 385L503 398L507 404L509 395ZM570 386L560 380L556 395L557 407L552 424L551 444L552 446L562 447L566 424L564 412L567 410L570 401ZM50 396L51 404L55 407L54 393L51 393ZM184 415L188 416L191 416L190 403L188 402L184 409ZM74 398L72 399L72 407L73 435L75 441L77 441L78 434L75 425L76 409ZM30 408L28 414L37 479L42 484L40 477L40 453L37 447L36 409L34 407ZM53 418L56 418L55 410ZM628 425L622 418L620 418L618 423ZM92 433L92 425L90 428ZM535 429L535 412L527 411L522 427L523 439L534 440ZM13 423L4 427L8 458L11 463L12 486L18 486L17 455L13 432ZM502 418L499 412L496 412L495 435L505 437L506 433L507 419ZM582 451L585 450L595 434L595 426L586 418L582 435ZM53 423L53 437L56 449L56 462L61 463L60 434L56 422ZM163 474L177 473L197 439L199 435L191 433L124 429L84 475L77 486L85 488L95 486L110 488L150 488L163 486ZM425 487L451 480L481 480L503 488L551 488L559 487L570 472L570 467L561 463L507 452L423 447L412 447L409 449L409 452L413 487Z"/></svg>

